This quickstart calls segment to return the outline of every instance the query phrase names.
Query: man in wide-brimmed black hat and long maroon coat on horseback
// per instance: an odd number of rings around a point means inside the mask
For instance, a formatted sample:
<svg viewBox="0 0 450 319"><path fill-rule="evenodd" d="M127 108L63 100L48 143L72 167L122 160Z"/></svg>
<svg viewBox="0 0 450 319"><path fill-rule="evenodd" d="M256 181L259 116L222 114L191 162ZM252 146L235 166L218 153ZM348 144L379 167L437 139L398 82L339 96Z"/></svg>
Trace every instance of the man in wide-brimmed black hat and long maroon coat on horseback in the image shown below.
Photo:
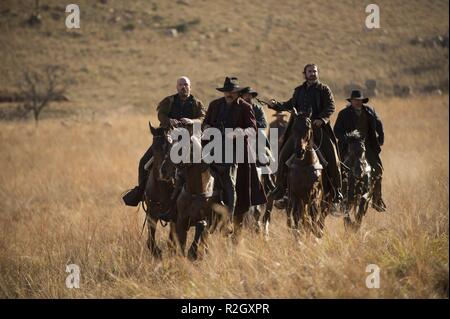
<svg viewBox="0 0 450 319"><path fill-rule="evenodd" d="M239 86L239 80L236 77L226 77L224 85L217 88L223 92L224 96L213 100L203 121L203 129L214 127L222 131L222 144L225 145L225 129L231 128L243 129L245 134L256 134L257 124L255 113L251 104L242 99ZM224 150L225 148L223 148ZM248 160L247 143L245 143L244 158ZM233 150L236 154L236 149ZM214 177L220 180L222 186L223 201L228 208L229 222L241 223L243 212L247 211L252 205L259 205L266 202L266 196L261 183L259 182L256 166L253 163L242 163L239 167L235 156L232 163L225 161L225 154L222 154L220 163L211 163ZM236 195L238 189L239 196ZM238 216L235 215L235 211Z"/></svg>

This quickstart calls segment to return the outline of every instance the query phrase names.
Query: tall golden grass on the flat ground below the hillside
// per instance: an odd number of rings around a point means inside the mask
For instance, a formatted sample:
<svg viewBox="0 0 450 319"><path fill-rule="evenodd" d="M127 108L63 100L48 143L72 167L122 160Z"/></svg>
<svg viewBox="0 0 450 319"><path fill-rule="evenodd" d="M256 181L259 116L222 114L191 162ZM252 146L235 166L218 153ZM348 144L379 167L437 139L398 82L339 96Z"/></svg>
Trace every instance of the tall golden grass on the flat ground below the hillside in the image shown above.
<svg viewBox="0 0 450 319"><path fill-rule="evenodd" d="M145 118L0 123L0 296L6 298L448 298L448 96L373 102L385 124L386 213L358 233L329 217L300 241L275 212L271 237L211 236L195 263L153 260L144 213L125 207L150 143ZM153 123L156 124L155 118ZM168 231L158 242L167 252ZM81 268L68 289L67 264ZM368 289L368 264L381 271Z"/></svg>

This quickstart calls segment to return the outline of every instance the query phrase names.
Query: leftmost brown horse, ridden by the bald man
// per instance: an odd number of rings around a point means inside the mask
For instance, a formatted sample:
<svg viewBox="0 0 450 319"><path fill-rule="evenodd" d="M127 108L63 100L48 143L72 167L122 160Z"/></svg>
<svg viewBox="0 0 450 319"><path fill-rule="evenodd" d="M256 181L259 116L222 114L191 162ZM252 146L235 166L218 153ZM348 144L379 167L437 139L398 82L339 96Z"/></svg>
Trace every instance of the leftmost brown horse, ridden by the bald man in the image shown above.
<svg viewBox="0 0 450 319"><path fill-rule="evenodd" d="M147 246L152 255L161 258L161 249L157 246L155 240L156 226L159 221L159 215L169 208L170 196L173 192L174 169L167 169L165 177L161 174L161 165L168 156L168 150L171 146L171 139L164 128L154 128L150 124L150 132L153 135L153 159L149 168L149 177L144 192L144 201L147 206L146 222L148 225ZM172 226L169 235L169 243L174 244Z"/></svg>

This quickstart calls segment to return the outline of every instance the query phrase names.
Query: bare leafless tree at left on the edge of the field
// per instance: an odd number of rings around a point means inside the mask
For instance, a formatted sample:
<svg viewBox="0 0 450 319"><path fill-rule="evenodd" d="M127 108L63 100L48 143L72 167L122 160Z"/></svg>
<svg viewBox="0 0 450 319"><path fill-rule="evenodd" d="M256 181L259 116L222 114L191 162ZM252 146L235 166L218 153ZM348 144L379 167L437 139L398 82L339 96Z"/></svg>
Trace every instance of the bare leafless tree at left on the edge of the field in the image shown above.
<svg viewBox="0 0 450 319"><path fill-rule="evenodd" d="M23 101L18 105L18 112L23 117L32 112L37 125L39 115L51 101L67 100L64 93L68 85L65 70L58 65L47 65L43 71L25 71L18 84Z"/></svg>

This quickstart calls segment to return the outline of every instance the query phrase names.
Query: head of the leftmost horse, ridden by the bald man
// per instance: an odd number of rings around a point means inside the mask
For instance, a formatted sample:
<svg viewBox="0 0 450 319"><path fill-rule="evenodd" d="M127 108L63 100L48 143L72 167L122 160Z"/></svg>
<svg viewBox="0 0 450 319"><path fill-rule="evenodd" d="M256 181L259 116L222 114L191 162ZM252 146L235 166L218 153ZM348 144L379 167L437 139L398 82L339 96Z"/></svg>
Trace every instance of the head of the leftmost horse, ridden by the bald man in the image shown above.
<svg viewBox="0 0 450 319"><path fill-rule="evenodd" d="M153 169L156 179L169 181L175 176L175 167L166 164L165 171L162 171L166 158L170 155L172 138L167 129L163 127L154 128L150 123L150 132L153 135ZM170 162L170 161L169 161ZM173 167L172 167L173 166Z"/></svg>

